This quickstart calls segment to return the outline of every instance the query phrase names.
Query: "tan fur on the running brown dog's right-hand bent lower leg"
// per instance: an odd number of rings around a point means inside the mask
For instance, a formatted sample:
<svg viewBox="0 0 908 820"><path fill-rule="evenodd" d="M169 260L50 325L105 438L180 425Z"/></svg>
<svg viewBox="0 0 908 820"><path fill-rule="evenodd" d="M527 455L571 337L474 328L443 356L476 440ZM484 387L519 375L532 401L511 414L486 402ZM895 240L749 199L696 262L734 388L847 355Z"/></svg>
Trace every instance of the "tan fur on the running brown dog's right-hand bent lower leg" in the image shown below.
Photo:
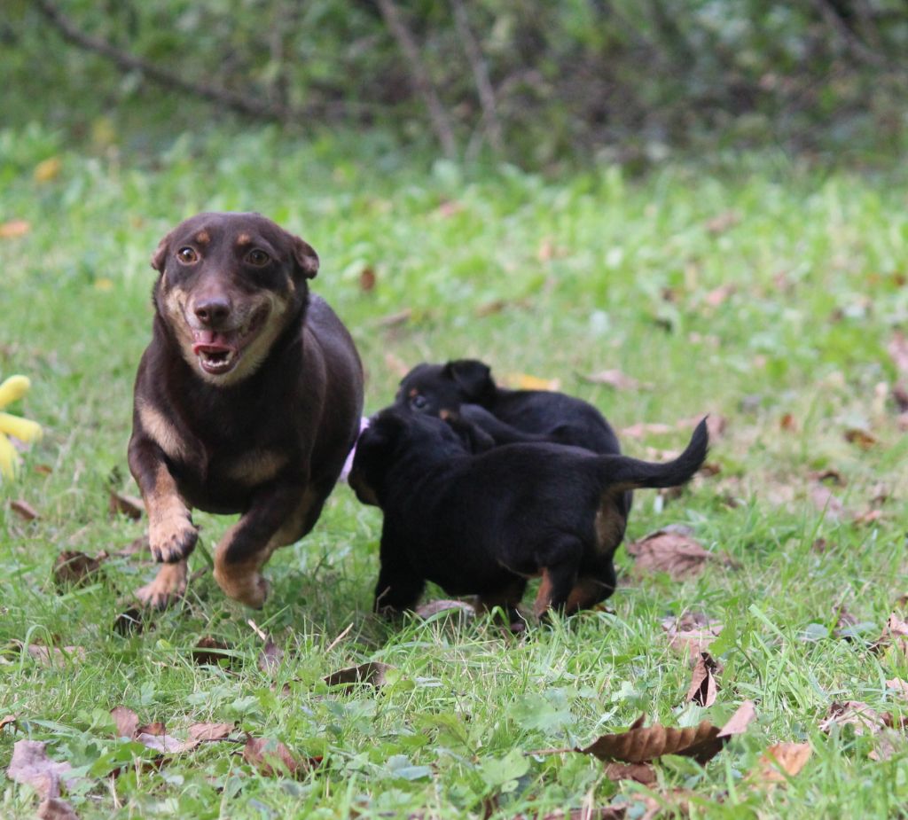
<svg viewBox="0 0 908 820"><path fill-rule="evenodd" d="M258 552L244 558L242 561L228 561L226 555L230 549L233 538L242 529L243 520L237 521L231 529L224 533L221 543L214 553L214 580L222 588L224 595L233 600L240 601L247 607L261 608L268 597L268 581L262 578L259 571L265 565L271 553L279 547L286 547L302 538L306 526L306 519L313 502L315 492L306 489L300 503L293 510L291 516L283 523L268 541L262 545Z"/></svg>

